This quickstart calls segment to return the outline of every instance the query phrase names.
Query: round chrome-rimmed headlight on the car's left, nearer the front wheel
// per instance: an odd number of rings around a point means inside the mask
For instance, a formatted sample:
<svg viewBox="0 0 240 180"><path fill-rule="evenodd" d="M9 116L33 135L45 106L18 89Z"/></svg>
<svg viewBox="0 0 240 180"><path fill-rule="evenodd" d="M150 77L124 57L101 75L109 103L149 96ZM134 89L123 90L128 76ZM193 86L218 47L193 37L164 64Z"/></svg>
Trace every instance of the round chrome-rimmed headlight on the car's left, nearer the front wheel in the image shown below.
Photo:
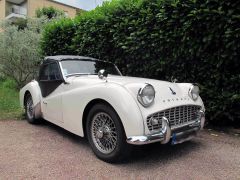
<svg viewBox="0 0 240 180"><path fill-rule="evenodd" d="M150 106L155 98L155 90L151 84L145 84L143 88L138 91L138 101L144 106Z"/></svg>

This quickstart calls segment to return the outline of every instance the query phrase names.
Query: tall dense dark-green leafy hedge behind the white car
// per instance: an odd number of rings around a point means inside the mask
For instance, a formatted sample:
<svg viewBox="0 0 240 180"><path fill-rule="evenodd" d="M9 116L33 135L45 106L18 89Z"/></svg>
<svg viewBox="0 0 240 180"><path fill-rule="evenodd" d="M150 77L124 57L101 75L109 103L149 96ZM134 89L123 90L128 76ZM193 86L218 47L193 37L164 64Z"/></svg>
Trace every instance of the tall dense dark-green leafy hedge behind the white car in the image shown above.
<svg viewBox="0 0 240 180"><path fill-rule="evenodd" d="M198 83L209 120L239 123L239 12L231 0L113 0L48 25L42 49L111 61L125 75Z"/></svg>

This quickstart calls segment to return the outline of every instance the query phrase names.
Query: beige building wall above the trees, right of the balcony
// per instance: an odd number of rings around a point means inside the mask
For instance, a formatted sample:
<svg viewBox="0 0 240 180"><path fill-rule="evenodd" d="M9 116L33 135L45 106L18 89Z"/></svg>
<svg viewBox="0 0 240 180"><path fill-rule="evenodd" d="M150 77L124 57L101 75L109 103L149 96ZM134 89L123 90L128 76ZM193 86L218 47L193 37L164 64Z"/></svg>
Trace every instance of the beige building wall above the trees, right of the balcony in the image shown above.
<svg viewBox="0 0 240 180"><path fill-rule="evenodd" d="M69 17L74 17L77 13L77 10L73 7L70 6L65 6L60 3L56 3L53 1L49 0L28 0L28 16L29 17L34 17L35 16L35 11L38 8L42 7L50 7L53 6L57 9L61 9L65 11Z"/></svg>

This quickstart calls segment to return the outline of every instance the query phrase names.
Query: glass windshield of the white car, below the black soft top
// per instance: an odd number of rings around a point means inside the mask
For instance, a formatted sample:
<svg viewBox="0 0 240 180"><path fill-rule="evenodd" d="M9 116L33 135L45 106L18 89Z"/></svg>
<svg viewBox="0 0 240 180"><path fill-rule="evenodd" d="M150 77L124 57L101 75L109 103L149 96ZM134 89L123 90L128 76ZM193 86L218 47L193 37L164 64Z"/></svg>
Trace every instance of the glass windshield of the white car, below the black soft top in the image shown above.
<svg viewBox="0 0 240 180"><path fill-rule="evenodd" d="M121 75L114 64L103 61L64 60L61 61L61 64L65 76L96 75L101 69L104 69L110 75Z"/></svg>

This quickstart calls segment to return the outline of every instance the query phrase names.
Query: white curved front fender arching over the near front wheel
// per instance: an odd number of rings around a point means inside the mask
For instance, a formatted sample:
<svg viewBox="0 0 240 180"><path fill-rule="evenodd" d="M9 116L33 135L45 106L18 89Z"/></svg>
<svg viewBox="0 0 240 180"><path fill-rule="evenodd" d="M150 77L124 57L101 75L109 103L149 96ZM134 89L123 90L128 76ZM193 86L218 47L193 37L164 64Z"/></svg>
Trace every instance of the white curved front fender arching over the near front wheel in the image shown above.
<svg viewBox="0 0 240 180"><path fill-rule="evenodd" d="M93 86L85 86L68 91L63 95L64 126L83 136L82 123L79 123L85 107L94 99L107 101L119 115L126 136L142 135L144 133L144 122L142 113L136 100L123 86L115 83L100 83Z"/></svg>

